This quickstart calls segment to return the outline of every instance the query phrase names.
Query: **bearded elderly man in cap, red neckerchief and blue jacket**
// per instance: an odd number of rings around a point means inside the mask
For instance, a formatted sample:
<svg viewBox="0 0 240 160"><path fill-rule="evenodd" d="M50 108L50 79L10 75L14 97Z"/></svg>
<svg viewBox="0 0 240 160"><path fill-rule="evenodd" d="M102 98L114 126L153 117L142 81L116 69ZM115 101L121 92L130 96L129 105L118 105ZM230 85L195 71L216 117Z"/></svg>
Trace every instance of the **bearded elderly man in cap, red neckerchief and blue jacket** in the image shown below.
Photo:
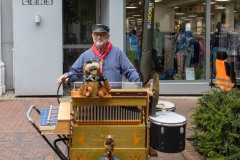
<svg viewBox="0 0 240 160"><path fill-rule="evenodd" d="M110 29L103 24L92 26L93 46L86 50L71 66L70 71L57 79L59 85L62 80L74 82L78 79L73 74L83 73L83 65L89 59L100 62L100 69L109 82L121 82L124 75L130 82L139 82L140 77L126 54L118 47L113 46L108 40ZM73 76L71 76L73 75Z"/></svg>

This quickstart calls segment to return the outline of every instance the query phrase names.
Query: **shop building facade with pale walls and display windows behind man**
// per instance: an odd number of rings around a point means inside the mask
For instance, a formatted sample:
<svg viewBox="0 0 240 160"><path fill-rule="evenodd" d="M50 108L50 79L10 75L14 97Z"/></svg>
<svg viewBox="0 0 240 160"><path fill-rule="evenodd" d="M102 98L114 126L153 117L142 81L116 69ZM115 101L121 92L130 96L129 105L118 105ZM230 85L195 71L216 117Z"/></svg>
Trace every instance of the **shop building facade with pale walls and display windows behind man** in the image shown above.
<svg viewBox="0 0 240 160"><path fill-rule="evenodd" d="M14 90L16 96L56 95L56 79L91 47L95 23L110 27L110 41L138 68L144 0L0 2L0 95L6 90ZM160 94L208 91L218 50L228 53L239 77L239 6L240 0L155 0L149 67L159 74ZM132 43L133 34L138 43Z"/></svg>

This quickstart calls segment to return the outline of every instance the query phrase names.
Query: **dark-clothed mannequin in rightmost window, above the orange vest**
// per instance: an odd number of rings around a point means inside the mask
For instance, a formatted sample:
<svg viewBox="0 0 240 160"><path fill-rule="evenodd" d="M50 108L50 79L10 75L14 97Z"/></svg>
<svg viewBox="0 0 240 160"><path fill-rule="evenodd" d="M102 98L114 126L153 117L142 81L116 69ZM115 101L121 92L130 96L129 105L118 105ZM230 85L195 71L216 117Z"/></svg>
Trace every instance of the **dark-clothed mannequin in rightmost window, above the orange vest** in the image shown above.
<svg viewBox="0 0 240 160"><path fill-rule="evenodd" d="M228 48L228 33L222 31L222 23L216 23L216 32L211 37L211 46L212 46L212 76L213 78L216 75L216 59L217 59L217 51L225 51L227 52Z"/></svg>

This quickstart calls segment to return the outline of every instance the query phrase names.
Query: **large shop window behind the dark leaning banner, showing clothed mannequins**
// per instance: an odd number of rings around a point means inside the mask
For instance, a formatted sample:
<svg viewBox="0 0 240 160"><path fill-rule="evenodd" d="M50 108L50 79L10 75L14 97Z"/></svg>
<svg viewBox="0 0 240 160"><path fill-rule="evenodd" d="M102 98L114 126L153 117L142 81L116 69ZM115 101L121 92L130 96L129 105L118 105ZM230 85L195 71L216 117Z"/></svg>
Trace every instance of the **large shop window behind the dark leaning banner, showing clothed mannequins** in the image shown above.
<svg viewBox="0 0 240 160"><path fill-rule="evenodd" d="M141 51L143 1L126 2L126 50L130 60L138 65L136 55ZM160 80L205 79L204 2L155 0L152 70L158 72ZM135 31L138 41L135 37L132 40ZM140 49L133 45L135 42Z"/></svg>

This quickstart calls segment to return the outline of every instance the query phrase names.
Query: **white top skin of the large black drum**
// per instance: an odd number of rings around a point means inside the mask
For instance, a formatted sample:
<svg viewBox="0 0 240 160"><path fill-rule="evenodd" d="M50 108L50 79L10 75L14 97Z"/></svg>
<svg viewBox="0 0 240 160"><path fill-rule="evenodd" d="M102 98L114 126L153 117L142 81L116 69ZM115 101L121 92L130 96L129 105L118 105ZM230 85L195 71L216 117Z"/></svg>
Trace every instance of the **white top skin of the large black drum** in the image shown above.
<svg viewBox="0 0 240 160"><path fill-rule="evenodd" d="M150 121L157 125L179 126L186 123L186 117L175 112L157 112L155 117L150 116Z"/></svg>

